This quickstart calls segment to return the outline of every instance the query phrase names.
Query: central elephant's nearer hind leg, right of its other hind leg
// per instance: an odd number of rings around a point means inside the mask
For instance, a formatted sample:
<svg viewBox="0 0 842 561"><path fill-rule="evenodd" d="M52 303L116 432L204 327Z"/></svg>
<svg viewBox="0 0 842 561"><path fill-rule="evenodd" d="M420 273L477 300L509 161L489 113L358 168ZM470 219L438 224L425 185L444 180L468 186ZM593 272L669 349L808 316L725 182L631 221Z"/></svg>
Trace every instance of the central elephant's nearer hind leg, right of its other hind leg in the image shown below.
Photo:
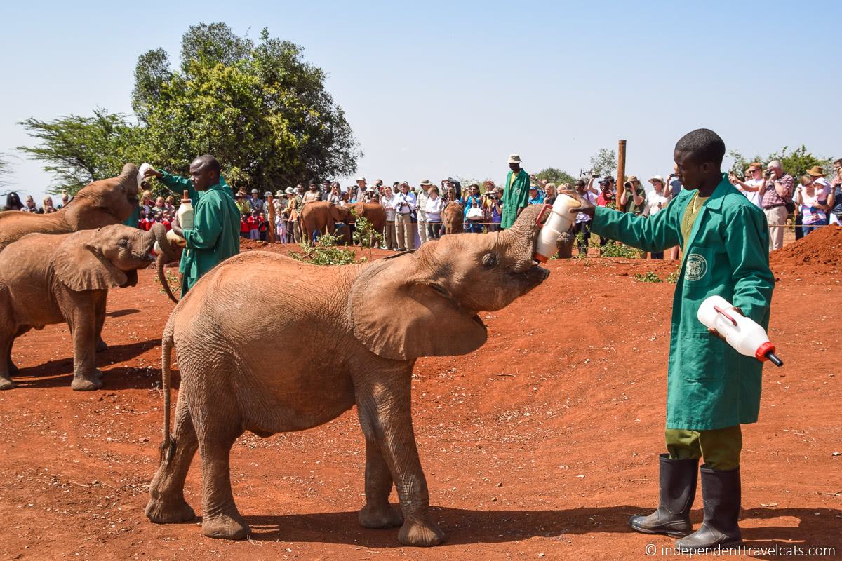
<svg viewBox="0 0 842 561"><path fill-rule="evenodd" d="M218 395L202 403L213 404L212 414L196 427L202 458L202 533L207 537L242 540L250 532L237 511L231 491L231 447L242 435L233 395L228 403Z"/></svg>

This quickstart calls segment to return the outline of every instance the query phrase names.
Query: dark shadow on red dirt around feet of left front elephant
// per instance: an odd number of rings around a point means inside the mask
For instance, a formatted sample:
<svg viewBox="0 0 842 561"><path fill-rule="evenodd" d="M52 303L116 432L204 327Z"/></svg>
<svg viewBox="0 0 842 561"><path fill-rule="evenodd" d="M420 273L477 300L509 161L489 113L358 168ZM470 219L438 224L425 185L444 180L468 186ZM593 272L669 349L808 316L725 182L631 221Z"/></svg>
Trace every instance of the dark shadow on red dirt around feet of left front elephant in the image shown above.
<svg viewBox="0 0 842 561"><path fill-rule="evenodd" d="M161 380L160 362L153 362L157 368L148 367L117 367L109 368L111 364L125 363L132 358L139 357L144 352L155 347L161 347L160 339L137 341L125 345L114 345L105 352L97 355L97 368L103 371L104 389L147 388L149 383L140 380ZM54 388L70 386L73 377L72 349L68 349L70 356L51 360L38 366L20 368L13 377L19 388Z"/></svg>

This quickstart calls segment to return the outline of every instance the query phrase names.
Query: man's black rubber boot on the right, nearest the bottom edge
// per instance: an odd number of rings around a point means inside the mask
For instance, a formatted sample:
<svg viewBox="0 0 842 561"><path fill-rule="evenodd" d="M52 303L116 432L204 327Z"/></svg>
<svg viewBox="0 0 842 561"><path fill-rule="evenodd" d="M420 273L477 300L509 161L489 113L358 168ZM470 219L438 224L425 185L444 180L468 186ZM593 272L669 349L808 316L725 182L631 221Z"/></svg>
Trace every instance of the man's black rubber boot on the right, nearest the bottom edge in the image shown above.
<svg viewBox="0 0 842 561"><path fill-rule="evenodd" d="M733 548L743 544L737 519L741 500L739 468L728 471L701 466L701 499L705 520L701 528L675 542L680 553L705 548Z"/></svg>

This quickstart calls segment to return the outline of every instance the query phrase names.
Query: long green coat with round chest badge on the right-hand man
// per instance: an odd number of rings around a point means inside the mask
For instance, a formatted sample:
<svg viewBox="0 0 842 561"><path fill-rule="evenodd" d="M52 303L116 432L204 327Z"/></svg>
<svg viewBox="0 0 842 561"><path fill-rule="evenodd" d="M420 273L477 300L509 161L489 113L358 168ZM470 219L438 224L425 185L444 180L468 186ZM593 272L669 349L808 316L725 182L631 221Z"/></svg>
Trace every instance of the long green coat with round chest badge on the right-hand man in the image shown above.
<svg viewBox="0 0 842 561"><path fill-rule="evenodd" d="M684 249L673 296L667 428L706 431L757 421L763 363L709 334L696 318L699 304L718 294L767 328L775 278L765 215L725 174L685 246L681 219L695 193L685 189L650 218L597 207L591 230L644 251Z"/></svg>

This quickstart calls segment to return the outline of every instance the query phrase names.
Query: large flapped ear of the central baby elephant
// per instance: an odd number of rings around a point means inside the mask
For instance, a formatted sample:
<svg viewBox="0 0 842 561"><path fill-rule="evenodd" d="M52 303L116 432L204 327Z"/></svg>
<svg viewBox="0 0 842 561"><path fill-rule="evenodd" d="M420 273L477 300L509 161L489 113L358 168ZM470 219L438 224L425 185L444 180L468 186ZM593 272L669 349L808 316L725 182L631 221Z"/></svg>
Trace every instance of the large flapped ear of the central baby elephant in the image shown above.
<svg viewBox="0 0 842 561"><path fill-rule="evenodd" d="M392 360L448 357L482 347L488 339L482 320L419 274L417 262L413 255L381 260L354 281L348 298L354 336Z"/></svg>

